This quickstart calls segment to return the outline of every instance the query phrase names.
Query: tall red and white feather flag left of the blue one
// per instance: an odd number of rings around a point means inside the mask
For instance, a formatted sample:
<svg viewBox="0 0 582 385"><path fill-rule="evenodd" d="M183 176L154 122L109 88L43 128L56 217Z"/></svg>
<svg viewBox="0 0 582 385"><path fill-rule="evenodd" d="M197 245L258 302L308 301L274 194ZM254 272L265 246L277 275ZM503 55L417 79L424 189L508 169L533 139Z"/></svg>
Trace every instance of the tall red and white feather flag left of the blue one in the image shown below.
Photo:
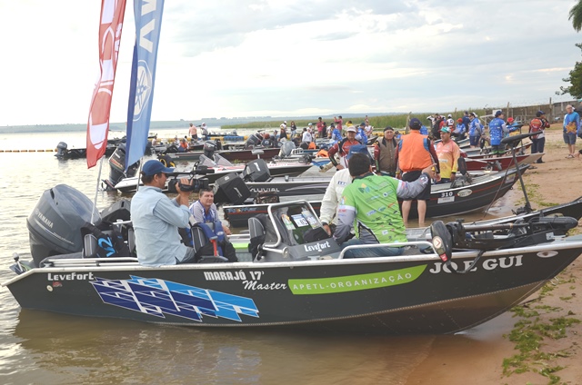
<svg viewBox="0 0 582 385"><path fill-rule="evenodd" d="M101 75L95 84L87 123L87 167L95 166L105 155L109 113L115 83L115 69L124 23L125 0L102 0L99 26L99 64Z"/></svg>

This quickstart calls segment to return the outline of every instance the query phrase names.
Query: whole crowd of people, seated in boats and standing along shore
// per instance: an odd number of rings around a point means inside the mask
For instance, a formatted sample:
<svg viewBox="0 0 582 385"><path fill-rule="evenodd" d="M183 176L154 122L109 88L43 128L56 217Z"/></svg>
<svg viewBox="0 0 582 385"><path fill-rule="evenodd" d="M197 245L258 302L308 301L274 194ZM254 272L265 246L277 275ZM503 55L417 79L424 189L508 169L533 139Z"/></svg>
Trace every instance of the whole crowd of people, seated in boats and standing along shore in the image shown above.
<svg viewBox="0 0 582 385"><path fill-rule="evenodd" d="M564 116L563 138L567 144L567 158L580 157L576 151L577 137L582 138L580 127L582 99L578 108L567 105ZM366 121L358 126L351 121L344 123L342 116L334 118L327 126L321 117L316 124L309 123L297 132L295 122L287 127L281 124L276 140L296 139L299 144L315 143L318 138L333 139L328 155L337 172L331 179L320 210L320 222L324 229L342 248L361 244L389 244L386 247L350 248L346 258L399 255L402 248L397 243L406 242L406 227L413 201L417 203L418 224L425 225L426 201L430 197L432 183L451 183L457 178L458 160L461 156L458 140L469 138L471 147L489 143L489 152L501 156L507 152L502 139L522 131L524 124L497 111L485 130L475 113L465 112L454 120L438 114L427 117L426 127L419 119L408 123L409 133L398 135L393 127L386 126L373 151L367 146L367 137L373 127ZM545 130L550 126L543 111L528 123L532 133L532 153L543 153ZM196 127L191 124L190 134L197 138ZM203 133L204 134L204 133ZM183 140L184 141L184 140ZM537 163L544 163L541 158ZM236 262L232 245L226 241L228 227L220 221L214 204L214 193L204 190L199 200L190 204L190 192L176 187L178 194L170 200L162 193L167 173L157 161L148 161L142 169L140 189L132 201L131 214L135 228L135 241L139 261L147 266L160 266L183 262L198 262L199 253L185 244L178 229L187 228L193 222L205 228L209 238L219 242L221 255ZM186 179L181 180L182 186ZM382 196L383 199L374 199ZM402 200L400 209L398 199ZM395 245L396 243L396 245ZM212 253L212 250L206 250Z"/></svg>

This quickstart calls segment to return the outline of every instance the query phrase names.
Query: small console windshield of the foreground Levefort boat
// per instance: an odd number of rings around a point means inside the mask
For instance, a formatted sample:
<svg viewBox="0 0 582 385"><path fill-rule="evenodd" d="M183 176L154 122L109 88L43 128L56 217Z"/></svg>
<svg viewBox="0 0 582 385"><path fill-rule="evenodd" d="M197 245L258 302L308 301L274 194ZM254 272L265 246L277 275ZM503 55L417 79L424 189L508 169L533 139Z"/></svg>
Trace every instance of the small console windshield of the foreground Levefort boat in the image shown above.
<svg viewBox="0 0 582 385"><path fill-rule="evenodd" d="M316 213L307 202L289 202L274 205L271 218L276 222L276 231L281 240L290 245L305 244L329 238Z"/></svg>

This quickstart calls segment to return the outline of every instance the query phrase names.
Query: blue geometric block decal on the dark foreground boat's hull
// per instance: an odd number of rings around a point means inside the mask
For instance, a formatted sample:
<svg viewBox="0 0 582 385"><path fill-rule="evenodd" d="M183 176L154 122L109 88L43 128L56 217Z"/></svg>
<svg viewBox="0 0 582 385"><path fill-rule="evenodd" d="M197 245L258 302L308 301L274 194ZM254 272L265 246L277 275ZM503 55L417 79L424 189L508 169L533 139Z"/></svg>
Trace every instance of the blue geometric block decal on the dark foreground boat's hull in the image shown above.
<svg viewBox="0 0 582 385"><path fill-rule="evenodd" d="M92 281L101 300L110 305L166 318L165 314L202 321L202 316L242 321L239 314L258 318L255 301L221 291L157 278Z"/></svg>

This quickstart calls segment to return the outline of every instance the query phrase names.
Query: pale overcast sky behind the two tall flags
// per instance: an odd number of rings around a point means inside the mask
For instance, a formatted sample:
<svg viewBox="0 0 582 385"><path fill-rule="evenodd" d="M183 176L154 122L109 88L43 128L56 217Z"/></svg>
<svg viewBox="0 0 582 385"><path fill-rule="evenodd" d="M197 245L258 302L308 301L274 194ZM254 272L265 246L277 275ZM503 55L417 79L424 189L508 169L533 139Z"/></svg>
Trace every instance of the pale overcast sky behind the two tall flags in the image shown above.
<svg viewBox="0 0 582 385"><path fill-rule="evenodd" d="M581 58L547 0L168 0L152 120L445 112L566 100ZM100 0L0 0L0 125L85 123ZM127 0L111 122L125 122Z"/></svg>

